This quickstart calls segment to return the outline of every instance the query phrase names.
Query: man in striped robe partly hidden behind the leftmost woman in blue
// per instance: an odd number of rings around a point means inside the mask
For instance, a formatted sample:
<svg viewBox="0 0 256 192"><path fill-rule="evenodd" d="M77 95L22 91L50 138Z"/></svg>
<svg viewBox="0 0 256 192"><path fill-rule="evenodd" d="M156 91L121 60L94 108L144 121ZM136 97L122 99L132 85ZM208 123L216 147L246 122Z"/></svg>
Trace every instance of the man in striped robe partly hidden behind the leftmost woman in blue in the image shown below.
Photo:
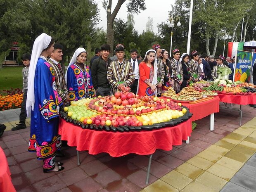
<svg viewBox="0 0 256 192"><path fill-rule="evenodd" d="M47 59L47 62L50 63L52 69L54 70L57 92L62 98L62 101L64 103L67 103L69 101L68 90L66 88L64 71L62 69L62 66L59 64L59 62L62 60L63 47L59 43L55 43L53 47L54 51L50 55L50 59Z"/></svg>

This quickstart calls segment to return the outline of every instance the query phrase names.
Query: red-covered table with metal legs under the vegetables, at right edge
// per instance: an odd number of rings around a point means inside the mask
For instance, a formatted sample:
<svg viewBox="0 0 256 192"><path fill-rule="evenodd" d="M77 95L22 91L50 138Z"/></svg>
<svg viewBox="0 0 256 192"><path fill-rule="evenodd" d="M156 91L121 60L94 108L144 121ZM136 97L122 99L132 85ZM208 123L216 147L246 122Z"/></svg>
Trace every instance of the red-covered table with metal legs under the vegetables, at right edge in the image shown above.
<svg viewBox="0 0 256 192"><path fill-rule="evenodd" d="M247 104L256 104L256 95L228 95L228 94L218 94L218 97L220 98L220 102L225 103L225 107L222 108L228 108L239 111L240 115L240 126L242 121L242 105ZM227 107L227 103L230 103L230 107ZM232 104L239 104L240 108L232 108Z"/></svg>

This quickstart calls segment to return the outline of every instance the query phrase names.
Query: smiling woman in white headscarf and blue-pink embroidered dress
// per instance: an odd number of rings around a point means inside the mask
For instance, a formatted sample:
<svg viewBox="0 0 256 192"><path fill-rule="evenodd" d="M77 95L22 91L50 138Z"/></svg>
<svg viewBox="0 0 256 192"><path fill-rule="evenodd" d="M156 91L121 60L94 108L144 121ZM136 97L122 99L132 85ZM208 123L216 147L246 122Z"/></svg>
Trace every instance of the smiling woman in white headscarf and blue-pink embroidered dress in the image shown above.
<svg viewBox="0 0 256 192"><path fill-rule="evenodd" d="M83 47L79 47L69 62L65 78L71 101L95 97L90 68L84 64L86 58L87 52Z"/></svg>

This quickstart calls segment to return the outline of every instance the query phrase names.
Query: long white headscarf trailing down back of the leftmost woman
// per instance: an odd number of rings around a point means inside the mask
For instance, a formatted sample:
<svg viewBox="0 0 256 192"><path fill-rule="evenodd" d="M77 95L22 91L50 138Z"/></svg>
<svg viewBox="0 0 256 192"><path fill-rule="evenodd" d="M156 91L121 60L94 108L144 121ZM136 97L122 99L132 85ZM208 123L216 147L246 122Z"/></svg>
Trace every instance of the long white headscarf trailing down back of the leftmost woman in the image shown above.
<svg viewBox="0 0 256 192"><path fill-rule="evenodd" d="M30 59L29 71L28 71L28 97L26 101L26 110L27 115L30 116L31 109L34 111L35 105L35 91L34 91L34 83L35 83L35 73L36 73L36 64L38 62L38 58L43 52L44 49L48 47L52 40L51 36L48 36L46 33L42 33L38 38L36 38L33 50Z"/></svg>

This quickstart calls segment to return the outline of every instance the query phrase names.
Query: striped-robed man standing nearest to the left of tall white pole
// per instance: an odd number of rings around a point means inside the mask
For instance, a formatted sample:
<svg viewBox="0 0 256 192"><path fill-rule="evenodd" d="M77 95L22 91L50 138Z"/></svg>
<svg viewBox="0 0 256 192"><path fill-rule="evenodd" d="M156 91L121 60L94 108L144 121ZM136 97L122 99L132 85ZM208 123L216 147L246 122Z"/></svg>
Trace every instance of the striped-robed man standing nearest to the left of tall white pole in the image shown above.
<svg viewBox="0 0 256 192"><path fill-rule="evenodd" d="M178 49L173 50L171 59L171 67L173 72L173 89L176 93L180 92L180 85L183 83L183 69L180 62L180 51Z"/></svg>

